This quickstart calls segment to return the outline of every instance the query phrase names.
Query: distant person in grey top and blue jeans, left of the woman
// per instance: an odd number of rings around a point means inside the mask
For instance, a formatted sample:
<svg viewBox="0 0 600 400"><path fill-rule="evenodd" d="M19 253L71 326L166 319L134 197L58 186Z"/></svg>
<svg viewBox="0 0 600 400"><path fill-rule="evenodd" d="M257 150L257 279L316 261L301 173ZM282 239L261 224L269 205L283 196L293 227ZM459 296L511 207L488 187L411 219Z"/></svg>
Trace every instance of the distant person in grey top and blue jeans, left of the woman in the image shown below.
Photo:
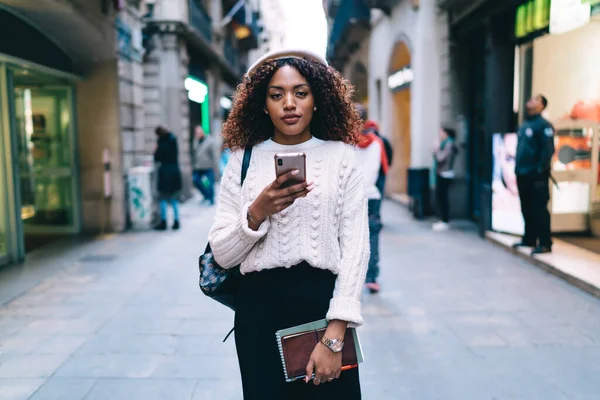
<svg viewBox="0 0 600 400"><path fill-rule="evenodd" d="M219 141L215 136L207 135L200 125L194 128L194 137L194 186L212 206L215 204L215 176L220 176Z"/></svg>

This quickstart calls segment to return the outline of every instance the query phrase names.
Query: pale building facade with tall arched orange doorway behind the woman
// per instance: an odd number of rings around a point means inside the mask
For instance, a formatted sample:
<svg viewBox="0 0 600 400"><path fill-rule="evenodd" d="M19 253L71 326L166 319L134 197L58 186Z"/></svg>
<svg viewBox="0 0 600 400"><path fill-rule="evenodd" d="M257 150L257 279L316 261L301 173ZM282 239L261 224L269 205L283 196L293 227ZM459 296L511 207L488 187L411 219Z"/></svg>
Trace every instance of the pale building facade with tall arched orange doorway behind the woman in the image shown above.
<svg viewBox="0 0 600 400"><path fill-rule="evenodd" d="M434 0L341 0L329 3L329 15L329 58L391 141L394 160L386 194L405 201L408 169L431 168L440 127L455 123L447 14ZM464 138L458 140L461 144ZM458 182L464 180L463 164L459 157ZM455 214L461 208L455 207Z"/></svg>

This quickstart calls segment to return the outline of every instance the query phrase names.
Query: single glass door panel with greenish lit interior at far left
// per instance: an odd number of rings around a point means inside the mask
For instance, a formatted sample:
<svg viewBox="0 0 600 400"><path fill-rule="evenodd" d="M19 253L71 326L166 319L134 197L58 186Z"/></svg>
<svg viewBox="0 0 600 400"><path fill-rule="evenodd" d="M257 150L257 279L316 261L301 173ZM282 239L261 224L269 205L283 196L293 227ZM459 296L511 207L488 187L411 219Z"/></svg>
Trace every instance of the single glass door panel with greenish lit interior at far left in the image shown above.
<svg viewBox="0 0 600 400"><path fill-rule="evenodd" d="M52 76L12 71L13 141L25 250L78 230L73 89Z"/></svg>

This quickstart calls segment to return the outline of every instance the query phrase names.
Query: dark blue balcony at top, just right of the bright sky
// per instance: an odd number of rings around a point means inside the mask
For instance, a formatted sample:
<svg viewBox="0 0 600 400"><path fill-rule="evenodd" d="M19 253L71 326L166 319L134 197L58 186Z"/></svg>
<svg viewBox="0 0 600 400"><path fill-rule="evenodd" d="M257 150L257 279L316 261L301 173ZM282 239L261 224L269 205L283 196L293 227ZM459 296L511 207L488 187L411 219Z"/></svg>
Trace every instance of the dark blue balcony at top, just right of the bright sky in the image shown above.
<svg viewBox="0 0 600 400"><path fill-rule="evenodd" d="M345 58L367 37L371 12L364 0L342 0L333 21L329 57Z"/></svg>

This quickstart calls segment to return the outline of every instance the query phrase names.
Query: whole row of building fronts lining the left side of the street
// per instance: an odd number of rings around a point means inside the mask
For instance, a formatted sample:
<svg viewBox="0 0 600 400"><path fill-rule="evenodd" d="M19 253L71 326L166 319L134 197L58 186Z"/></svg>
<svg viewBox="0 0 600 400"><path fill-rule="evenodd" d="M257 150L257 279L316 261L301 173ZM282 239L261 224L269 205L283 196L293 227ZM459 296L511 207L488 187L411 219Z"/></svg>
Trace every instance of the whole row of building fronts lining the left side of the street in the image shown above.
<svg viewBox="0 0 600 400"><path fill-rule="evenodd" d="M126 229L128 174L152 164L159 124L189 196L192 129L220 133L258 19L233 0L1 0L0 265Z"/></svg>

